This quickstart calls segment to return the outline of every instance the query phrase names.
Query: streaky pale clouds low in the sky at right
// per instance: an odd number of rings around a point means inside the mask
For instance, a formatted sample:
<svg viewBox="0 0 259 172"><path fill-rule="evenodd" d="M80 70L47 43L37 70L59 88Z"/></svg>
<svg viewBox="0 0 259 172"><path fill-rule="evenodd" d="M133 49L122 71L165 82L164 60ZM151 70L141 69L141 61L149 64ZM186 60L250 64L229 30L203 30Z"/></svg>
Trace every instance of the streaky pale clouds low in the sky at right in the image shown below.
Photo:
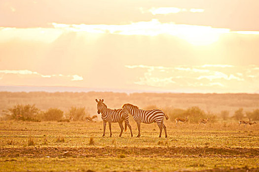
<svg viewBox="0 0 259 172"><path fill-rule="evenodd" d="M259 84L257 81L257 78L259 78L258 70L253 70L257 66L204 64L199 66L172 67L126 65L125 67L131 70L146 69L144 72L143 70L137 71L139 77L137 77L137 81L132 81L134 84L155 86L163 89L233 90L237 89L237 87L240 87L240 89L243 89L243 87L251 89L252 87L256 90Z"/></svg>

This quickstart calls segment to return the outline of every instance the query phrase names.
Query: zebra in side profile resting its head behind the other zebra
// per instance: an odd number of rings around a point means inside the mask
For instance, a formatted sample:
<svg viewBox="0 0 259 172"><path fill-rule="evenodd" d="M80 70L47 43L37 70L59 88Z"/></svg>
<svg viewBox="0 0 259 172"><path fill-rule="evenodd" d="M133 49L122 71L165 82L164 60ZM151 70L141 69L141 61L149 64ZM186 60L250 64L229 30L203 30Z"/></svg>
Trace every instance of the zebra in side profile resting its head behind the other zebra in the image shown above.
<svg viewBox="0 0 259 172"><path fill-rule="evenodd" d="M165 130L165 137L167 138L167 132L166 132L166 126L164 125L164 117L166 119L169 119L169 117L161 110L159 109L153 109L153 110L143 110L139 109L137 106L134 106L132 104L124 104L122 106L123 108L123 116L126 117L128 114L131 114L134 118L134 120L137 122L139 134L137 138L140 137L140 123L153 123L156 122L160 129L159 138L161 137L162 130L164 128Z"/></svg>

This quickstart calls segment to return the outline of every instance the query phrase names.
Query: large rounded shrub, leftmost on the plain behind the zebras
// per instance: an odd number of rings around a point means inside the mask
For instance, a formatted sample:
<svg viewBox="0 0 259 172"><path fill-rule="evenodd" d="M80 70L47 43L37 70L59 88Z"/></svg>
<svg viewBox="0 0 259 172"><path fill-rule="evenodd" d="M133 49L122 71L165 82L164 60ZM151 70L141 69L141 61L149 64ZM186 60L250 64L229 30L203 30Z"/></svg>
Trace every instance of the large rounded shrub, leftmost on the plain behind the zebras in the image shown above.
<svg viewBox="0 0 259 172"><path fill-rule="evenodd" d="M9 115L11 119L39 122L37 119L39 109L35 105L16 105L9 108L7 112L6 115Z"/></svg>

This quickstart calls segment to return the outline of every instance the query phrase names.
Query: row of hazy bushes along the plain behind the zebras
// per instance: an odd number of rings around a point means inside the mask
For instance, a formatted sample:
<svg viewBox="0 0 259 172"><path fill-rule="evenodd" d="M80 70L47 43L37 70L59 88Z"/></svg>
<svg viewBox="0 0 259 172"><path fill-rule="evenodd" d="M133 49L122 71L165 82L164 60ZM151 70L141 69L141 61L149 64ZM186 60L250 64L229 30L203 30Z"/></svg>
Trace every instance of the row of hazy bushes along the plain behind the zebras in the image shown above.
<svg viewBox="0 0 259 172"><path fill-rule="evenodd" d="M144 109L156 109L154 105L148 106ZM165 107L162 109L168 116L169 119L175 122L177 117L188 117L189 122L197 123L200 118L210 118L211 122L216 121L218 115L211 112L205 113L199 107L190 107L186 110L177 109L171 107ZM85 117L90 116L89 112L85 107L71 107L68 112L64 113L62 110L57 108L49 108L46 111L41 111L35 105L15 105L12 108L3 111L4 117L2 119L14 119L23 121L78 121L84 120ZM233 116L229 116L229 111L221 111L220 116L223 120L234 118L236 120L243 119L245 117L251 120L259 120L259 109L252 112L243 112L243 108L235 111Z"/></svg>

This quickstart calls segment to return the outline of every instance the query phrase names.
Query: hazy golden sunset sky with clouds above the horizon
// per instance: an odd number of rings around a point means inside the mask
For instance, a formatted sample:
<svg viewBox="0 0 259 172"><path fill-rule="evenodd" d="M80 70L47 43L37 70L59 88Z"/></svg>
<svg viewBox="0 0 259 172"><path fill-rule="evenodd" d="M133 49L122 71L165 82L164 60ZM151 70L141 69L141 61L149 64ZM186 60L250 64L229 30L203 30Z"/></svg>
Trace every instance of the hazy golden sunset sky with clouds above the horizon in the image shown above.
<svg viewBox="0 0 259 172"><path fill-rule="evenodd" d="M0 86L259 93L259 0L0 0Z"/></svg>

